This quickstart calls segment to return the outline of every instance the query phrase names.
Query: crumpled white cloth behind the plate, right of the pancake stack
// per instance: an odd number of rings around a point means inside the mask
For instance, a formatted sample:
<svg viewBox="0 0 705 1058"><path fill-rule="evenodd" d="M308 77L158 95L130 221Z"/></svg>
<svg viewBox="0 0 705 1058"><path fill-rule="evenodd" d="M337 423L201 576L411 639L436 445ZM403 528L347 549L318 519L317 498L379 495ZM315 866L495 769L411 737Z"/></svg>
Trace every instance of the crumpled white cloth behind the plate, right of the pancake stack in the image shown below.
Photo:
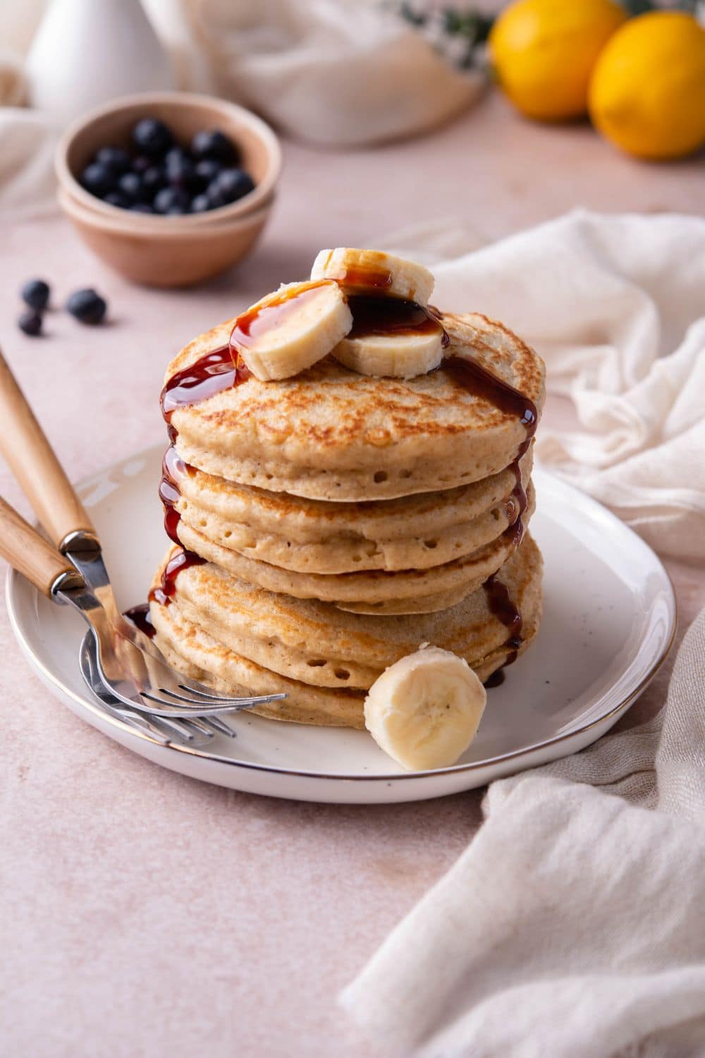
<svg viewBox="0 0 705 1058"><path fill-rule="evenodd" d="M573 398L586 430L542 426L544 464L662 553L705 558L704 219L575 211L451 260L428 253L447 225L390 244L434 257L434 300L507 324Z"/></svg>

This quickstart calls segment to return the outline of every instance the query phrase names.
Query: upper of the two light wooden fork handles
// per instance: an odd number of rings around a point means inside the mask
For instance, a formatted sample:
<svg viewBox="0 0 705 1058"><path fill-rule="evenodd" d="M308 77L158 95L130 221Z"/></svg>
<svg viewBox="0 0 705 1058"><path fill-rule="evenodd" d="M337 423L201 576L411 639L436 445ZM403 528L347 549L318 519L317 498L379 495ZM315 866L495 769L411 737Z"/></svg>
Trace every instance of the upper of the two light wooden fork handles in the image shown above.
<svg viewBox="0 0 705 1058"><path fill-rule="evenodd" d="M2 352L0 422L0 453L6 459L52 543L60 548L67 537L76 532L95 536L93 523L74 492Z"/></svg>

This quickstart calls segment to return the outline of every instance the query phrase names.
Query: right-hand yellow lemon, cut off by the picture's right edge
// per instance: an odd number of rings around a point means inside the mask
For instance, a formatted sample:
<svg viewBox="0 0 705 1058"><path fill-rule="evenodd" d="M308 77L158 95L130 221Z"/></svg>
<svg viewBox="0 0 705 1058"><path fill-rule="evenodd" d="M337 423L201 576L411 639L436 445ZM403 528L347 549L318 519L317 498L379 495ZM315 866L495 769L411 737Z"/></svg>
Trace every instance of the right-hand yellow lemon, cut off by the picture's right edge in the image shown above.
<svg viewBox="0 0 705 1058"><path fill-rule="evenodd" d="M639 158L680 158L705 143L705 30L683 12L632 19L601 53L590 116Z"/></svg>

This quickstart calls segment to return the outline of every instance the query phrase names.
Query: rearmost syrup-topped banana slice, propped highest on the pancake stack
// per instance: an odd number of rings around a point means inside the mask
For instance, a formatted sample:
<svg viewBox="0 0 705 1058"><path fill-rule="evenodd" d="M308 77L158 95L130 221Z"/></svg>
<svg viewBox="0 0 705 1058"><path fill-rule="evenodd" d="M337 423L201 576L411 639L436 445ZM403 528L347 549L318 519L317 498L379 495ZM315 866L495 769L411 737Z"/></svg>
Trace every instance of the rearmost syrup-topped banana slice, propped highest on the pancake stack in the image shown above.
<svg viewBox="0 0 705 1058"><path fill-rule="evenodd" d="M381 250L336 247L321 250L311 269L312 279L335 279L346 294L390 294L428 305L433 275L415 261Z"/></svg>

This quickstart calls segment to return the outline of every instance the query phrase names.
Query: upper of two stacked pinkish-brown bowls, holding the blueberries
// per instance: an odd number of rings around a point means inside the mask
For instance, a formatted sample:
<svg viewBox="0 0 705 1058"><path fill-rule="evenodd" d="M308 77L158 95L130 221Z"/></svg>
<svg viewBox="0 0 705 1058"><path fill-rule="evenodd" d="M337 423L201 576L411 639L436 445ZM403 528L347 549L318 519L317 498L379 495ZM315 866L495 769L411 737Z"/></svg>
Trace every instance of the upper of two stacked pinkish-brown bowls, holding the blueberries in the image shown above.
<svg viewBox="0 0 705 1058"><path fill-rule="evenodd" d="M221 129L239 148L242 166L255 181L254 190L207 213L155 218L110 205L81 187L78 175L96 150L106 145L128 147L131 129L148 116L166 122L182 144L189 143L200 129ZM114 99L69 126L56 149L55 168L64 200L70 196L85 209L109 219L131 217L135 231L155 219L165 226L212 226L259 211L272 201L281 171L281 148L268 125L235 103L188 92L149 92Z"/></svg>

